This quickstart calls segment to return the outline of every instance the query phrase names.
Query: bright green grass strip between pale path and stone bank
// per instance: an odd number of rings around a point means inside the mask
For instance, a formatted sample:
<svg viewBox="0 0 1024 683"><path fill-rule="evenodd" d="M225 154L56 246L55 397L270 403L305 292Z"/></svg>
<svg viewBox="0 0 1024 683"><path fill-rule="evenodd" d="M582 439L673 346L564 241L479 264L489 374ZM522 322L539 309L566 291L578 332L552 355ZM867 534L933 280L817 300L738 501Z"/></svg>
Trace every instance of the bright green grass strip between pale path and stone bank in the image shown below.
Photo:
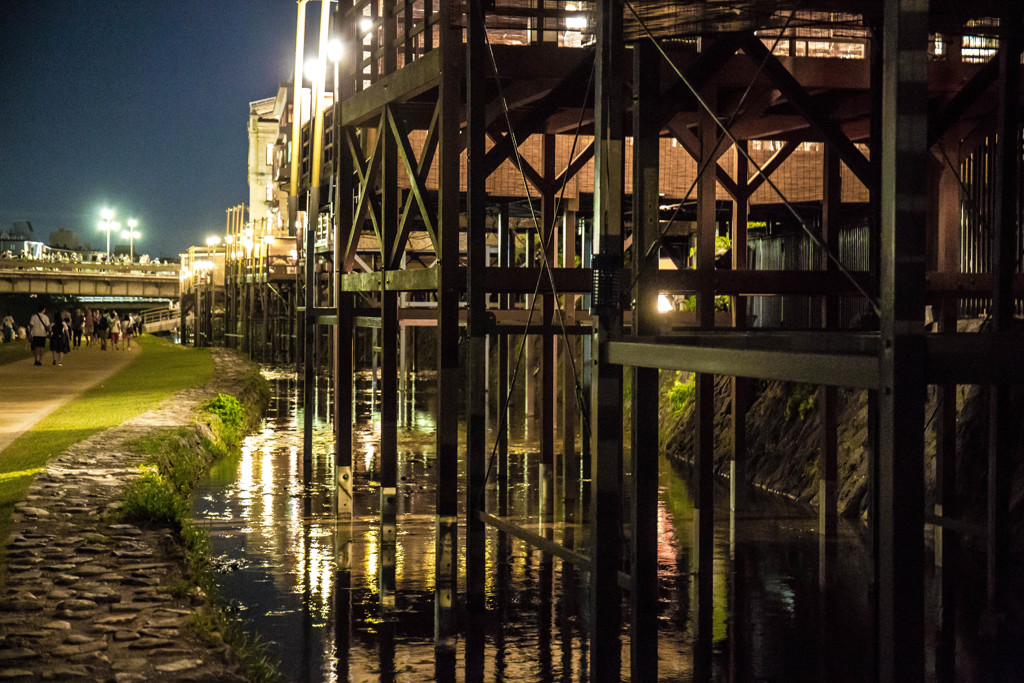
<svg viewBox="0 0 1024 683"><path fill-rule="evenodd" d="M14 504L50 457L173 393L205 384L213 374L209 349L176 346L150 335L138 343L142 353L134 362L50 413L0 452L0 539L7 538Z"/></svg>

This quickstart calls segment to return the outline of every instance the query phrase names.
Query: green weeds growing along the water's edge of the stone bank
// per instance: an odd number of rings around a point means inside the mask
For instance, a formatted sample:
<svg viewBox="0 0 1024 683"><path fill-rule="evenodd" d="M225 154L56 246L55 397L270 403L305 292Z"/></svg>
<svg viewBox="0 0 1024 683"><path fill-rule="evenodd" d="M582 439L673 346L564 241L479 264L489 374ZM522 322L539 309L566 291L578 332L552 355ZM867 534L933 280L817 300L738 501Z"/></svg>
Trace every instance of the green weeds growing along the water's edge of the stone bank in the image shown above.
<svg viewBox="0 0 1024 683"><path fill-rule="evenodd" d="M209 429L212 438L198 436L202 428L179 428L134 441L132 446L146 455L146 462L138 478L125 487L121 515L129 521L166 524L175 532L190 575L163 590L177 598L206 595L214 608L191 616L193 631L211 645L230 645L250 680L272 681L280 674L267 644L246 633L237 620L224 613L211 563L210 536L190 518L193 489L213 460L227 455L241 442L248 415L237 398L219 394L203 405L197 420Z"/></svg>

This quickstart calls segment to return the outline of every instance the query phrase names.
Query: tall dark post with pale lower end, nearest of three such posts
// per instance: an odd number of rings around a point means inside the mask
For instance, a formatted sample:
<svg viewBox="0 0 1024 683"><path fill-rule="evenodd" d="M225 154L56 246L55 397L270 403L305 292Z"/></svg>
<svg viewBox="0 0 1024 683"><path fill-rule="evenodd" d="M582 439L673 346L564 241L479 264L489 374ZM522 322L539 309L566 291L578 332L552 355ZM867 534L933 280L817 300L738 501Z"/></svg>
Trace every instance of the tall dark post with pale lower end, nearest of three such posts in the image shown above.
<svg viewBox="0 0 1024 683"><path fill-rule="evenodd" d="M455 656L452 623L458 588L459 512L459 129L463 58L451 8L441 5L439 136L437 144L437 510L435 535L434 647L439 658Z"/></svg>

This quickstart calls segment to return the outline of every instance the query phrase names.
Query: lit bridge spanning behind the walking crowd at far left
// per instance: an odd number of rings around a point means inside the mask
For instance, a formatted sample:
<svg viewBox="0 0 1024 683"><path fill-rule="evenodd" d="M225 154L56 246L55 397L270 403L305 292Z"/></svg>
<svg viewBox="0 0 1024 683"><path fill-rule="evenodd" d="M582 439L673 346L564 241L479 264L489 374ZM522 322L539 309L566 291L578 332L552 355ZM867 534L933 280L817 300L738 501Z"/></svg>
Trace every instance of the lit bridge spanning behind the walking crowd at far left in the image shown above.
<svg viewBox="0 0 1024 683"><path fill-rule="evenodd" d="M174 263L120 265L0 259L0 294L177 299L180 282Z"/></svg>

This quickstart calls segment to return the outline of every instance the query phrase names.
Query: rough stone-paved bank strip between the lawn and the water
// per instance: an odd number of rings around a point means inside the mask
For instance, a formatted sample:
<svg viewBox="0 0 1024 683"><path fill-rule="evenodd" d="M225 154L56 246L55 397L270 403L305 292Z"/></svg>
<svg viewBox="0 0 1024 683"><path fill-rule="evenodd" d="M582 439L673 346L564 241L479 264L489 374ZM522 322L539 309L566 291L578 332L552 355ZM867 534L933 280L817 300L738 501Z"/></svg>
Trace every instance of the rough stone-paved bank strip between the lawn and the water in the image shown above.
<svg viewBox="0 0 1024 683"><path fill-rule="evenodd" d="M202 596L167 590L183 569L170 531L108 514L142 460L126 441L188 424L200 401L238 392L244 364L213 353L209 384L52 458L17 505L0 595L0 680L244 680L226 645L186 628Z"/></svg>

